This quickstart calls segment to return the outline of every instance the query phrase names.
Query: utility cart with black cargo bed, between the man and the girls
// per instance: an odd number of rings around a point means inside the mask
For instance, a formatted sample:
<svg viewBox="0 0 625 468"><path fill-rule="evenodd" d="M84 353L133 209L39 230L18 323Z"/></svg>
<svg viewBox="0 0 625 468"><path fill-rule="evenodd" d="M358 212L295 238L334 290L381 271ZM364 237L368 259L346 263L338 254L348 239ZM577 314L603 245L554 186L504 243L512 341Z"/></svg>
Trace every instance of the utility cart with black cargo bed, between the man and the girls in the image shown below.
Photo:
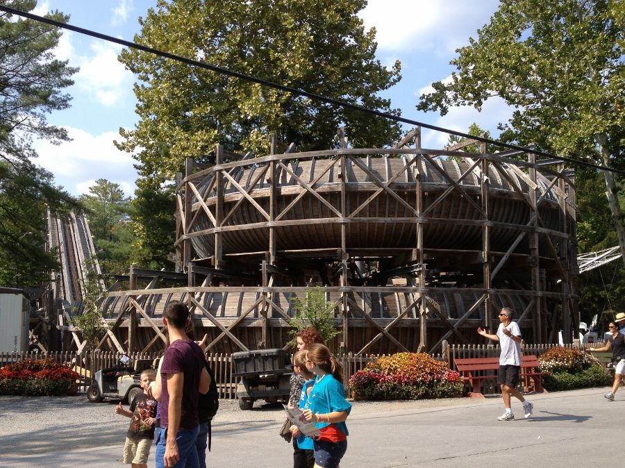
<svg viewBox="0 0 625 468"><path fill-rule="evenodd" d="M251 410L256 400L287 403L293 373L290 355L283 349L257 349L232 353L233 376L237 384L239 408Z"/></svg>

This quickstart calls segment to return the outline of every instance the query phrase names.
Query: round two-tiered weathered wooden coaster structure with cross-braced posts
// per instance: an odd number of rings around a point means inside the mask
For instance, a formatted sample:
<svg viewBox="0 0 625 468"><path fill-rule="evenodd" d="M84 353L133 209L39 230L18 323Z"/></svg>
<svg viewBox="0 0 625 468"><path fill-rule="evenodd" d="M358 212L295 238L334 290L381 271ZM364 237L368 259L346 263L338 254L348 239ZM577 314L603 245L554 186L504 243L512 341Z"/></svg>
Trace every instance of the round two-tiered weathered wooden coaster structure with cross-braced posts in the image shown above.
<svg viewBox="0 0 625 468"><path fill-rule="evenodd" d="M353 353L477 342L503 306L528 342L577 328L575 192L562 162L461 151L474 140L424 149L420 128L382 149L349 148L344 133L326 151L270 142L263 157L217 146L213 165L187 160L178 272L131 269L130 290L104 304L118 339L101 347L162 349L172 299L188 303L213 351L286 346L292 299L315 285L338 303L331 345Z"/></svg>

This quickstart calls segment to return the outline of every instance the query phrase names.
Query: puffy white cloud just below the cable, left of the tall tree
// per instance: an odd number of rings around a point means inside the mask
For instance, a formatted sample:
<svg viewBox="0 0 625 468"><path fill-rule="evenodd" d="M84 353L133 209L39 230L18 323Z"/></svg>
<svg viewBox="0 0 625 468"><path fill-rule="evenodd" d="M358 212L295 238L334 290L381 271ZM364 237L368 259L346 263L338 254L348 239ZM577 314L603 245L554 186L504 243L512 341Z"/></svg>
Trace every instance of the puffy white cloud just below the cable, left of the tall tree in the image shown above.
<svg viewBox="0 0 625 468"><path fill-rule="evenodd" d="M76 84L97 97L103 106L113 106L132 90L133 74L117 60L121 46L94 42L93 55L78 58L81 67Z"/></svg>

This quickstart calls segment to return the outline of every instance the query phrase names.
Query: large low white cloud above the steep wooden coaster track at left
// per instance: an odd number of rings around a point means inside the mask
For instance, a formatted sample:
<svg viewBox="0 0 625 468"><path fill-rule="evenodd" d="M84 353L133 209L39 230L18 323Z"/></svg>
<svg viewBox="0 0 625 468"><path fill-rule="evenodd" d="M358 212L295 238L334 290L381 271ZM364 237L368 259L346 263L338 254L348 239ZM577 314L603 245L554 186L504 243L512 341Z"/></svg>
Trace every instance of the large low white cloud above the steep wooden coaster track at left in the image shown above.
<svg viewBox="0 0 625 468"><path fill-rule="evenodd" d="M71 142L58 146L38 140L33 145L39 154L34 162L54 174L55 183L72 194L88 193L98 178L119 184L127 196L135 190L136 171L130 154L115 148L116 132L90 135L79 128L65 127Z"/></svg>

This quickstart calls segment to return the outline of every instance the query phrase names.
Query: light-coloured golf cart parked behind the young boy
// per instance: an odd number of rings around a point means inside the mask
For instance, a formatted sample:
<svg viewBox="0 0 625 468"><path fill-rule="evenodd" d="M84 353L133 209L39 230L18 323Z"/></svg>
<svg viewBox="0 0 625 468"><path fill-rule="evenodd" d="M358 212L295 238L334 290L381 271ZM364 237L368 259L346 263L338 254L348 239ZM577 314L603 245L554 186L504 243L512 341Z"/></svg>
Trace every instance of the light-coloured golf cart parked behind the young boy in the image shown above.
<svg viewBox="0 0 625 468"><path fill-rule="evenodd" d="M151 360L138 359L130 366L131 358L123 354L115 367L97 371L92 384L87 389L87 399L99 403L105 398L128 400L131 404L141 388L141 372L151 367Z"/></svg>

